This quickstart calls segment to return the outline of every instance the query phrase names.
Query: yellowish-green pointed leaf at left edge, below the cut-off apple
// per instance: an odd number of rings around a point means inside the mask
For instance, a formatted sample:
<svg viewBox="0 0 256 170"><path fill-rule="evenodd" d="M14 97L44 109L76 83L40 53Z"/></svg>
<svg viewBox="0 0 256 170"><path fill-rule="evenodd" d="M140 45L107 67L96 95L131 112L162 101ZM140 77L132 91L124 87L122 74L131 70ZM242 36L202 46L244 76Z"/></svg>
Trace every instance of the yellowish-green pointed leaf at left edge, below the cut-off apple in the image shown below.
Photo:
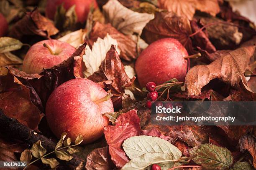
<svg viewBox="0 0 256 170"><path fill-rule="evenodd" d="M0 37L0 53L18 50L23 43L11 37Z"/></svg>

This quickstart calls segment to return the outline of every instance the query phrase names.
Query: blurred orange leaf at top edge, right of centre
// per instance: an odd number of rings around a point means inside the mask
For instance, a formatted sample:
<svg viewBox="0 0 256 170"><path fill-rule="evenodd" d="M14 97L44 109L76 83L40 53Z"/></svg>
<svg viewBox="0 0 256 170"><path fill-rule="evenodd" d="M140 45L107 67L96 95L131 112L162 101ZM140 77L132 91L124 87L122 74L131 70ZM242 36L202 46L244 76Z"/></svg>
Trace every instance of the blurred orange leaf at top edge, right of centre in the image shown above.
<svg viewBox="0 0 256 170"><path fill-rule="evenodd" d="M213 16L220 12L218 0L158 0L158 5L188 20L192 20L196 10Z"/></svg>

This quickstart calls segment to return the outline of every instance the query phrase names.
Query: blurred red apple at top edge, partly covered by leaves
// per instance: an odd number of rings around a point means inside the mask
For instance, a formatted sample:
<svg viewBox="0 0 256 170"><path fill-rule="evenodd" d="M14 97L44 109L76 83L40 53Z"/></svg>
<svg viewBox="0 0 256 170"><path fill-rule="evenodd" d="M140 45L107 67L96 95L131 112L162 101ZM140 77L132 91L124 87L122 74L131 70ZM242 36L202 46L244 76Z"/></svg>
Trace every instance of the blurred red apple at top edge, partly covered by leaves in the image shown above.
<svg viewBox="0 0 256 170"><path fill-rule="evenodd" d="M83 23L87 20L87 15L90 11L90 5L97 7L96 0L47 0L46 16L51 20L54 19L56 8L63 4L64 8L68 10L73 5L76 5L75 10L77 14L77 22Z"/></svg>

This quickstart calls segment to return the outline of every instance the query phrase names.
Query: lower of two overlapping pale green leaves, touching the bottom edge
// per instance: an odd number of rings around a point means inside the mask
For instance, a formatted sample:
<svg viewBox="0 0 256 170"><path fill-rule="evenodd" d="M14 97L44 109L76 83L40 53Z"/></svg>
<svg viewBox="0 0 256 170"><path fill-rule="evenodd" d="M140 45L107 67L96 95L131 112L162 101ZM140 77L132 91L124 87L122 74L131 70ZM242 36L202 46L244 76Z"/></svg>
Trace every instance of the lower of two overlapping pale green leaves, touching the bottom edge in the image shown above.
<svg viewBox="0 0 256 170"><path fill-rule="evenodd" d="M148 166L156 163L169 162L173 167L175 162L170 162L173 160L173 156L168 153L145 153L140 157L134 158L126 163L121 170L144 170Z"/></svg>

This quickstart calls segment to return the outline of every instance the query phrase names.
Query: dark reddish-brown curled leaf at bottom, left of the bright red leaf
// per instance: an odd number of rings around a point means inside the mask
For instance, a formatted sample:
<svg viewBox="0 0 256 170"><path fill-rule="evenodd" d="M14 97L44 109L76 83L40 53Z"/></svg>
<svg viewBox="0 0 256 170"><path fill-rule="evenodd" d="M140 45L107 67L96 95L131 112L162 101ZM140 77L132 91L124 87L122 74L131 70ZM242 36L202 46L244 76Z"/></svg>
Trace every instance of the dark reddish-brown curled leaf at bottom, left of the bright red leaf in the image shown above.
<svg viewBox="0 0 256 170"><path fill-rule="evenodd" d="M108 146L93 150L86 159L87 170L112 170L113 163L108 153Z"/></svg>

